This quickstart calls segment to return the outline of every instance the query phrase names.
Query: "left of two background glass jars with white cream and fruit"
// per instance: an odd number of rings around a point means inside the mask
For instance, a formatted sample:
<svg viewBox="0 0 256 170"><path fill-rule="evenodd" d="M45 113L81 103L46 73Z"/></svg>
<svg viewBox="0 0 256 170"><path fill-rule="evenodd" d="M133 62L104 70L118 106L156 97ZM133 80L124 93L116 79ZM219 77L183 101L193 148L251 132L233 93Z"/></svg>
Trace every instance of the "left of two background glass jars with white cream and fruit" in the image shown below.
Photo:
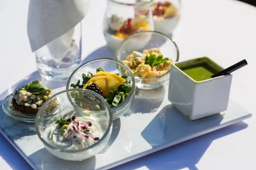
<svg viewBox="0 0 256 170"><path fill-rule="evenodd" d="M152 3L153 0L108 0L103 20L103 33L108 48L116 51L129 35L154 30Z"/></svg>

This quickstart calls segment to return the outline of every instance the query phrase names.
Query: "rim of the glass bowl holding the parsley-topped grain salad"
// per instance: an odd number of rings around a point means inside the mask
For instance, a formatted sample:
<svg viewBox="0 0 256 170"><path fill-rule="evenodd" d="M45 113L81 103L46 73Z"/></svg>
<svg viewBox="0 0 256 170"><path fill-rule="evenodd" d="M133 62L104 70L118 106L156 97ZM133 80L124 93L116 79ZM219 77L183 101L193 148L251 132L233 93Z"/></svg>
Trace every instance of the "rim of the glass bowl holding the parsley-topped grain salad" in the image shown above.
<svg viewBox="0 0 256 170"><path fill-rule="evenodd" d="M116 53L115 53L115 59L117 59L118 61L120 61L120 60L118 59L118 53L119 53L119 51L120 51L120 48L122 47L122 45L123 45L126 41L128 41L129 39L131 39L132 37L134 37L134 36L136 36L136 35L138 35L138 34L144 34L144 33L160 34L160 35L166 37L167 39L171 40L172 43L175 45L175 48L176 48L176 51L177 51L176 60L173 61L173 63L179 61L179 59L180 59L180 51L179 51L179 48L178 48L178 46L177 46L175 40L173 40L169 35L163 34L163 33L158 32L158 31L142 31L142 32L137 32L137 33L131 34L130 36L128 36L127 38L125 38L125 40L123 40L123 41L121 42L121 44L119 45L119 47L117 48ZM171 70L171 69L170 69L170 70ZM162 74L162 75L157 76L157 77L148 77L148 78L143 78L143 77L138 77L138 76L134 76L134 77L135 77L135 79L137 79L137 80L153 80L153 79L161 78L161 77L165 76L166 74L169 74L169 73L170 73L170 70L168 70L165 74Z"/></svg>

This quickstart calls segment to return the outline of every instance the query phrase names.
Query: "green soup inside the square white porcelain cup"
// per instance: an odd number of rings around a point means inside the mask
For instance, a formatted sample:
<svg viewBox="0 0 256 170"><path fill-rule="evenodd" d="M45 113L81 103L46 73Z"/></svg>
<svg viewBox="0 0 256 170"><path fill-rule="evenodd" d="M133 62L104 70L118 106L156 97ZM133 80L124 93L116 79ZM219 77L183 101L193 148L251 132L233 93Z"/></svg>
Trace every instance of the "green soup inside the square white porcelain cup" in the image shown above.
<svg viewBox="0 0 256 170"><path fill-rule="evenodd" d="M218 72L214 68L212 68L207 62L201 62L198 64L181 67L180 70L182 70L189 77L198 82L210 79L213 74L216 74Z"/></svg>

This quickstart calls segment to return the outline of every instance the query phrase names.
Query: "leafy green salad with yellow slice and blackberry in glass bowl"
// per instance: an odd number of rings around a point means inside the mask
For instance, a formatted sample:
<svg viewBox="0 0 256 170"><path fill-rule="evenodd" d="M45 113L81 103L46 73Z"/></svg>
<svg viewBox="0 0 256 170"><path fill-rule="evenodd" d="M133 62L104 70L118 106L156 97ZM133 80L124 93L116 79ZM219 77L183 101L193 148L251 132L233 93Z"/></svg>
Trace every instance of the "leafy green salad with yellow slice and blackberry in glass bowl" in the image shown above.
<svg viewBox="0 0 256 170"><path fill-rule="evenodd" d="M114 108L124 102L131 92L131 81L126 81L127 77L127 75L119 76L119 74L112 74L102 68L97 68L96 74L91 72L88 72L87 75L82 74L82 82L80 83L80 80L78 80L76 84L71 84L70 86L95 91L105 98L111 108ZM80 99L82 99L81 96ZM92 103L86 102L88 100L90 100L90 97L87 100L83 98L81 103L77 104L85 110L96 111L96 108L98 108L96 102L92 105Z"/></svg>

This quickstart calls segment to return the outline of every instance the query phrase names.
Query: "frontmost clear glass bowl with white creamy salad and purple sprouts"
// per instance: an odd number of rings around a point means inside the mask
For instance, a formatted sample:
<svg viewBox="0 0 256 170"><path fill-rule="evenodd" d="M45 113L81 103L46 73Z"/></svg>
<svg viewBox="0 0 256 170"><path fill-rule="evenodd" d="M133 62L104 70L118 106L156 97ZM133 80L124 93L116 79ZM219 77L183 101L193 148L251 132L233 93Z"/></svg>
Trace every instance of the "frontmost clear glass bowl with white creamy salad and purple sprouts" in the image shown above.
<svg viewBox="0 0 256 170"><path fill-rule="evenodd" d="M51 102L55 97L62 98L64 109L49 119L46 116L52 111ZM77 113L84 101L92 111L102 111L105 119ZM111 109L102 96L87 89L68 89L55 94L42 105L35 119L35 128L45 148L54 156L81 161L105 147L111 136L112 119Z"/></svg>

